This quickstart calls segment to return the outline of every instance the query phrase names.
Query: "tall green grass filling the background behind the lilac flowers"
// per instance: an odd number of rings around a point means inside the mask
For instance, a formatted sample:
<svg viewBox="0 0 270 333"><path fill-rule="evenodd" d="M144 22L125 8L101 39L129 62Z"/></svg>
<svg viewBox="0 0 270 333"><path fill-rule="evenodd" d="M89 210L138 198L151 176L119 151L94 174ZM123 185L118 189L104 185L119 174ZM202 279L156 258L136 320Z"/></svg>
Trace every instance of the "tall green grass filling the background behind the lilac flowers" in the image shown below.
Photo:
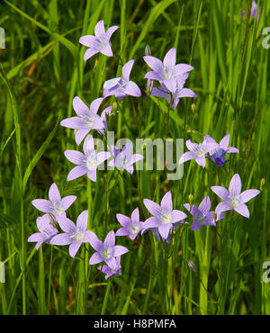
<svg viewBox="0 0 270 333"><path fill-rule="evenodd" d="M6 267L1 314L270 314L269 284L262 280L269 259L269 50L259 37L270 25L270 4L259 5L257 24L249 0L1 4L6 36L6 49L0 49L0 260ZM120 26L112 37L114 57L98 55L85 63L79 37L93 34L101 19L105 28ZM194 67L187 85L198 98L182 99L164 127L166 101L146 94L147 44L157 58L175 46L177 62ZM87 104L101 96L103 82L121 75L131 58L130 78L143 96L103 102L103 108L114 103L120 111L110 118L115 139L202 141L209 134L220 141L230 133L229 144L240 153L231 154L222 168L187 162L178 181L167 181L165 171L130 176L115 170L98 171L96 183L86 177L67 182L71 166L63 152L77 148L74 132L58 121L74 115L75 95ZM193 198L199 204L209 194L213 210L218 200L210 187L228 187L235 173L243 189L262 191L248 202L249 220L227 212L216 228L178 227L170 245L150 232L134 242L118 238L130 252L121 259L121 276L107 281L87 265L88 245L72 259L67 247L43 244L37 252L27 243L39 214L31 201L47 198L53 182L62 196L77 195L68 217L76 221L88 209L88 228L103 239L119 229L116 213L130 216L139 207L140 220L146 220L143 199L160 202L168 190L175 209L184 211L185 202Z"/></svg>

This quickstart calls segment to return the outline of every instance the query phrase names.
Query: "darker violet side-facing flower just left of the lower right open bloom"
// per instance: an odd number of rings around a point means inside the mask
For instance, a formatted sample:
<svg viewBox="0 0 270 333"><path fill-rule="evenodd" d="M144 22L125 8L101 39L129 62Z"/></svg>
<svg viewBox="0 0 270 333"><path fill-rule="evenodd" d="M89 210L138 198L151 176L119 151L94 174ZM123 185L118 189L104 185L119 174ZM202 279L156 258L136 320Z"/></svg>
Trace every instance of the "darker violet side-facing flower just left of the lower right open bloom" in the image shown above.
<svg viewBox="0 0 270 333"><path fill-rule="evenodd" d="M216 221L221 220L225 217L224 214L219 214L217 219L214 219L214 211L210 211L211 201L207 195L200 203L199 208L194 204L191 207L189 203L184 203L186 208L193 215L192 230L201 229L202 226L216 226Z"/></svg>

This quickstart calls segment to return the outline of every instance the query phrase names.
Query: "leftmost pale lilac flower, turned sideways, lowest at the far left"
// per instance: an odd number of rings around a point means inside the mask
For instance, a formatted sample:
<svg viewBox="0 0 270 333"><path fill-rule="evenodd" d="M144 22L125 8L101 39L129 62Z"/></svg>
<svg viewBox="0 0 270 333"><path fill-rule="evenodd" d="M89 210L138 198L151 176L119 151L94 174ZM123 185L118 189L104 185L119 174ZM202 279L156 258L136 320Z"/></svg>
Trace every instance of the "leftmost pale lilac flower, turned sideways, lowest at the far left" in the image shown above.
<svg viewBox="0 0 270 333"><path fill-rule="evenodd" d="M50 224L49 214L45 214L42 217L37 218L37 227L40 232L35 232L28 238L29 242L37 242L36 249L40 248L40 245L44 242L49 242L57 233L58 229L54 228Z"/></svg>

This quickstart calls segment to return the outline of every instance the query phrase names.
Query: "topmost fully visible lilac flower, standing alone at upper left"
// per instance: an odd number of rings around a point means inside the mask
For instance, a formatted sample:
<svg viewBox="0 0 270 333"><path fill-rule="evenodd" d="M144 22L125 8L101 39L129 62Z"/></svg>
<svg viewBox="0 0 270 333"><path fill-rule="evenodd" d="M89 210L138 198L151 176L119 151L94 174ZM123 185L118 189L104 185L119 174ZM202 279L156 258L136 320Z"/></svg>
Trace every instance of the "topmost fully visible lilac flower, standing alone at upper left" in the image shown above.
<svg viewBox="0 0 270 333"><path fill-rule="evenodd" d="M95 24L94 27L94 34L82 36L79 39L79 42L85 46L87 46L89 49L86 49L84 59L85 61L88 58L91 58L94 56L95 53L101 52L107 57L112 57L112 43L110 41L112 33L116 31L119 27L117 25L113 25L110 27L106 32L104 29L104 23L103 20L99 21Z"/></svg>

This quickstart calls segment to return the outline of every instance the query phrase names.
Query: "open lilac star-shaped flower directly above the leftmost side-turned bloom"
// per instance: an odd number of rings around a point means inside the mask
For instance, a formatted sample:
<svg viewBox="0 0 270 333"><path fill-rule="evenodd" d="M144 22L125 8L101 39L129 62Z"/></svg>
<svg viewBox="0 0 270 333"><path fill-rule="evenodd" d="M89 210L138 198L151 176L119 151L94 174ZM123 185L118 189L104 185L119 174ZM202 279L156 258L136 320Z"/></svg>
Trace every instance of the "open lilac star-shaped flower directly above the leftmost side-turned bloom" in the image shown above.
<svg viewBox="0 0 270 333"><path fill-rule="evenodd" d="M35 199L31 202L39 211L47 212L59 221L66 217L67 208L76 200L75 195L67 195L61 199L57 184L53 183L49 187L49 200Z"/></svg>

